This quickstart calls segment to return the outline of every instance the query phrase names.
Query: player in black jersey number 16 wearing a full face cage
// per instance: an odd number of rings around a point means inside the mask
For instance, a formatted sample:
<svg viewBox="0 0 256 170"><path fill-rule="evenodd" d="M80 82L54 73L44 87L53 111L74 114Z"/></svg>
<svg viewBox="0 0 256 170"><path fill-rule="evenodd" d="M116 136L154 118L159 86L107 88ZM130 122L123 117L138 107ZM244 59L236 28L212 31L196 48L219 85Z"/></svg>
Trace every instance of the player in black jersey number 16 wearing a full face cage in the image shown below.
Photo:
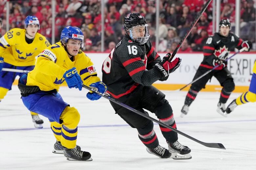
<svg viewBox="0 0 256 170"><path fill-rule="evenodd" d="M159 120L176 128L173 111L165 95L152 86L157 80L167 80L181 63L176 58L169 62L168 53L162 60L154 50L149 39L146 19L139 13L131 13L124 17L126 35L111 51L102 66L103 82L108 93L118 101L139 110L149 110ZM166 139L168 149L159 145L153 129L153 122L113 102L110 102L116 113L131 127L136 128L139 139L146 150L160 158L191 159L190 148L178 142L178 134L162 127L161 132Z"/></svg>

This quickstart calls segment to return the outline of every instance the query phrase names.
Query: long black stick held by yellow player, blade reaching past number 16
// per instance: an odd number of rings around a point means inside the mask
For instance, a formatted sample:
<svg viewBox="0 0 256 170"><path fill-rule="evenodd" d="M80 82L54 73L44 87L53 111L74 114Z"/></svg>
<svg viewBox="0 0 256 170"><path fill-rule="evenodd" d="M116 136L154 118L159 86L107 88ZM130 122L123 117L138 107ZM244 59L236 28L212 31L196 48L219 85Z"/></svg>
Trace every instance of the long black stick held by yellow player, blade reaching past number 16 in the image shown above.
<svg viewBox="0 0 256 170"><path fill-rule="evenodd" d="M179 130L177 130L177 129L175 129L175 128L169 126L169 125L166 125L166 124L164 124L164 123L162 123L162 122L160 122L160 121L158 121L158 120L156 120L156 119L154 119L154 118L152 118L152 117L150 117L150 116L148 116L148 115L146 115L146 114L140 112L139 110L136 110L136 109L134 109L134 108L131 108L130 106L127 106L127 105L125 105L125 104L123 104L123 103L121 103L121 102L118 102L117 100L111 98L109 95L107 95L107 94L105 94L105 93L100 93L100 92L97 91L96 89L93 89L93 88L88 87L88 86L86 86L86 85L83 85L83 88L85 88L85 89L87 89L87 90L90 90L90 91L92 91L92 92L95 92L95 93L97 93L98 95L100 95L100 96L102 96L102 97L108 99L109 101L112 101L112 102L114 102L114 103L116 103L116 104L118 104L118 105L120 105L120 106L122 106L122 107L124 107L124 108L126 108L126 109L128 109L128 110L131 110L131 111L133 111L133 112L139 114L140 116L143 116L143 117L145 117L145 118L147 118L147 119L149 119L149 120L151 120L151 121L153 121L153 122L156 122L156 123L158 123L159 125L161 125L161 126L163 126L163 127L166 127L166 128L168 128L168 129L171 129L171 130L173 130L173 131L175 131L175 132L181 134L182 136L185 136L185 137L187 137L187 138L189 138L189 139L191 139L191 140L193 140L193 141L195 141L195 142L197 142L197 143L199 143L199 144L202 144L202 145L204 145L204 146L206 146L206 147L213 147L213 148L219 148L219 149L226 149L226 148L224 147L224 145L223 145L223 144L220 144L220 143L205 143L205 142L201 142L201 141L199 141L199 140L197 140L197 139L195 139L195 138L193 138L193 137L191 137L191 136L189 136L189 135L187 135L187 134L185 134L185 133L183 133L183 132L181 132L181 131L179 131Z"/></svg>

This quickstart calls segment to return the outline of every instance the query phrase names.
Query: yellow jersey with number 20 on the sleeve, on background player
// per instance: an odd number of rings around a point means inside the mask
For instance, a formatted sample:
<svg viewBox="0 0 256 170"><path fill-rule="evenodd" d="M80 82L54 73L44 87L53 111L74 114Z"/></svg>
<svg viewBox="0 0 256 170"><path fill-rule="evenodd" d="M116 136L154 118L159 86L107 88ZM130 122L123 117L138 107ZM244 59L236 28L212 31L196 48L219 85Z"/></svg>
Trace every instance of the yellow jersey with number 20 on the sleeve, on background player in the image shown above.
<svg viewBox="0 0 256 170"><path fill-rule="evenodd" d="M0 38L0 57L14 66L35 65L35 57L51 44L36 33L32 43L25 40L26 29L13 28Z"/></svg>

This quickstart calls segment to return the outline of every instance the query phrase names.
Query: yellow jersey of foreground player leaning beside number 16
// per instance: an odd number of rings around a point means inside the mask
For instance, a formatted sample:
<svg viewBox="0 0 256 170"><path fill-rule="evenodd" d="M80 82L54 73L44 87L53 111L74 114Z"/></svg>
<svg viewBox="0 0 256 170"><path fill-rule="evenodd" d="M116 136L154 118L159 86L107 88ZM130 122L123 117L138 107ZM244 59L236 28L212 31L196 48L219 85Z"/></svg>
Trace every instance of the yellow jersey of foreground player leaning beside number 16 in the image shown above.
<svg viewBox="0 0 256 170"><path fill-rule="evenodd" d="M83 84L89 86L100 81L93 62L84 52L79 50L74 61L71 61L61 42L57 42L38 55L35 68L28 74L27 85L38 86L43 91L58 90L65 81L64 73L73 67L81 76Z"/></svg>

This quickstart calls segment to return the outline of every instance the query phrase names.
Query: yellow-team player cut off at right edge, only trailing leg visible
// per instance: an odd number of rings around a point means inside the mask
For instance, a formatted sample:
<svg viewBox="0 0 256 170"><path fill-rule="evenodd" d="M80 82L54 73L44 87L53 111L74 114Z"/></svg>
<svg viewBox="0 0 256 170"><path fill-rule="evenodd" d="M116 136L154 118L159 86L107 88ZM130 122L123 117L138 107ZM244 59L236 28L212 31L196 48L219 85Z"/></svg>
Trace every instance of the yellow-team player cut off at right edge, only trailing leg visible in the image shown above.
<svg viewBox="0 0 256 170"><path fill-rule="evenodd" d="M252 78L249 87L249 91L244 92L238 98L234 99L226 109L226 113L230 113L237 107L238 105L242 105L248 102L256 102L256 61L254 62L254 66L252 69Z"/></svg>

